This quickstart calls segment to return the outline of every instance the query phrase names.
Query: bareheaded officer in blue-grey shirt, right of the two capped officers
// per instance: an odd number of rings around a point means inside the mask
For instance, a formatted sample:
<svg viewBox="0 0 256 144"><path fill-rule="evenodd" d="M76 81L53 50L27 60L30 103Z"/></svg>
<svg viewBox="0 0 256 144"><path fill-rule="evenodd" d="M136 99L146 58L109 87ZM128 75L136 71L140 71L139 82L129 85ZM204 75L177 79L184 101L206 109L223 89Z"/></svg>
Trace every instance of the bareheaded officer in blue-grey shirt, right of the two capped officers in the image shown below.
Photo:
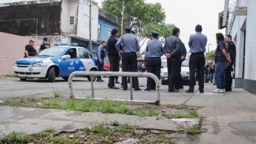
<svg viewBox="0 0 256 144"><path fill-rule="evenodd" d="M179 28L173 29L173 34L166 39L163 49L167 58L168 92L178 92L179 90L175 89L174 86L179 80Z"/></svg>

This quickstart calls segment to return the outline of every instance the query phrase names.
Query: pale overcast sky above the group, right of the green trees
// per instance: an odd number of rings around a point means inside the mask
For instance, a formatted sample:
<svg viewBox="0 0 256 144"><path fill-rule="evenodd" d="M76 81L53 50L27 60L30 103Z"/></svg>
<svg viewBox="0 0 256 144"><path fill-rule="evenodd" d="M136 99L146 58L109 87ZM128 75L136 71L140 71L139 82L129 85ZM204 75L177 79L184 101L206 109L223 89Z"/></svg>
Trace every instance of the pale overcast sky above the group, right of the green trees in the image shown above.
<svg viewBox="0 0 256 144"><path fill-rule="evenodd" d="M103 0L95 0L101 2ZM195 33L195 26L202 25L202 33L207 35L210 50L216 48L215 34L218 30L218 13L224 9L225 0L146 0L148 3L159 2L166 12L166 23L175 24L181 30L180 38L187 44L189 35ZM187 46L187 49L189 47Z"/></svg>

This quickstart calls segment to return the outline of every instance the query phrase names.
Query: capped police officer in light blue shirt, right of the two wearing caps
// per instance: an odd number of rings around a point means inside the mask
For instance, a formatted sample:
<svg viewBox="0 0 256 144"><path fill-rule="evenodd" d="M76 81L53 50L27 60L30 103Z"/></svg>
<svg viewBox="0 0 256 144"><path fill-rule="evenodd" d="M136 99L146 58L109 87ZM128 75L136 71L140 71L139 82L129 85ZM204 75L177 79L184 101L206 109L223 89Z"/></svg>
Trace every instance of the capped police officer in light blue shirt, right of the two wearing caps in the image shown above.
<svg viewBox="0 0 256 144"><path fill-rule="evenodd" d="M163 45L158 40L159 32L152 31L151 39L147 42L146 55L147 55L147 72L156 75L160 79L161 73L161 56L163 56ZM152 78L147 78L146 91L156 89L156 83Z"/></svg>

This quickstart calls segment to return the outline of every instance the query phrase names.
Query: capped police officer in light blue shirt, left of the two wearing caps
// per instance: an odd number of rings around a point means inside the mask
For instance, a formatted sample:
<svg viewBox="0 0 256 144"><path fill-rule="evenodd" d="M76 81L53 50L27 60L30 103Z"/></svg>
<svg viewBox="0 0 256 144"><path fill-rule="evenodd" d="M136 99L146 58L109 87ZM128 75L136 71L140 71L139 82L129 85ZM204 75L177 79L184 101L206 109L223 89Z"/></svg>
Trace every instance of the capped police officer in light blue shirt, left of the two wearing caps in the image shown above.
<svg viewBox="0 0 256 144"><path fill-rule="evenodd" d="M125 35L122 35L115 44L115 48L121 55L120 44L122 43L122 71L138 72L137 52L140 50L138 39L131 34L131 26L125 26ZM138 78L133 77L134 90L141 90L138 87ZM122 88L127 90L127 77L122 77Z"/></svg>

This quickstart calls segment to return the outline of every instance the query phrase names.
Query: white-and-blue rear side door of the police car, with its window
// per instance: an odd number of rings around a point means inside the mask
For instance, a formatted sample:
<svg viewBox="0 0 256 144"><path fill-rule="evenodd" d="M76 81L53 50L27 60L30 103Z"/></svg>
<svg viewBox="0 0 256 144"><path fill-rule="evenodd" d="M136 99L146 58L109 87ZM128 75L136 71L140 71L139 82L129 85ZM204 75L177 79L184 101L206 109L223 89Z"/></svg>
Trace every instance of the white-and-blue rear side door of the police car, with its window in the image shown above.
<svg viewBox="0 0 256 144"><path fill-rule="evenodd" d="M79 48L79 58L83 67L80 67L80 71L89 71L91 67L95 66L93 59L86 49Z"/></svg>

